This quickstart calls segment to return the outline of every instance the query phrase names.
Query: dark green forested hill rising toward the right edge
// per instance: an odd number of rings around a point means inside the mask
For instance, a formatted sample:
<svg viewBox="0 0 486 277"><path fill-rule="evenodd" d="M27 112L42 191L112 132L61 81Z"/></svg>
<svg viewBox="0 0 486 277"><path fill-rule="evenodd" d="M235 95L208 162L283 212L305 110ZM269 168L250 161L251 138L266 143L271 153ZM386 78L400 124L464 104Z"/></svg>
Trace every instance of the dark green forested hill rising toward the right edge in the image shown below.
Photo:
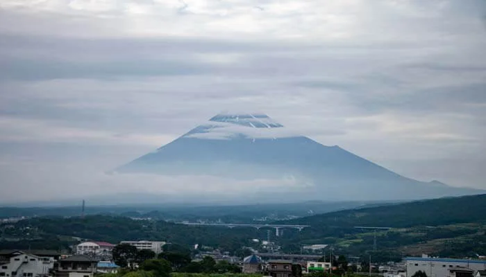
<svg viewBox="0 0 486 277"><path fill-rule="evenodd" d="M319 226L438 226L466 222L486 222L486 195L429 199L404 204L358 208L324 213L285 224Z"/></svg>

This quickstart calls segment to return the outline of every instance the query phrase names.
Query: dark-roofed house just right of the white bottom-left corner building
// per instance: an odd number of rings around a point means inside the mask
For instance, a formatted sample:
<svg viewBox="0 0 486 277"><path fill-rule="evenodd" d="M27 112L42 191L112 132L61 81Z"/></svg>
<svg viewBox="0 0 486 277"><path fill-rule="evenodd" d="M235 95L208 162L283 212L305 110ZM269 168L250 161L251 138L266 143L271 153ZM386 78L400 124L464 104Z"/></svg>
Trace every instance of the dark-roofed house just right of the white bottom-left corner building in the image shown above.
<svg viewBox="0 0 486 277"><path fill-rule="evenodd" d="M70 256L58 261L56 277L94 277L97 260L89 256Z"/></svg>

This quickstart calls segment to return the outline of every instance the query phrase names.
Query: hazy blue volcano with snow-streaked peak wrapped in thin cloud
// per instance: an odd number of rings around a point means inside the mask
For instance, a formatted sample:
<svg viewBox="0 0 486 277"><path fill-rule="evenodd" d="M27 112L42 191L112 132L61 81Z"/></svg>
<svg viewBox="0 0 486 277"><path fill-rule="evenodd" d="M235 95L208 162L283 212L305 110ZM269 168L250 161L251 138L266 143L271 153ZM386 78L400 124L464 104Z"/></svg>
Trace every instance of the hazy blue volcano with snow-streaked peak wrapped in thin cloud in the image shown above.
<svg viewBox="0 0 486 277"><path fill-rule="evenodd" d="M218 114L115 172L219 177L228 182L228 190L232 181L260 180L261 187L242 197L276 201L425 199L481 192L403 177L338 146L294 134L265 114Z"/></svg>

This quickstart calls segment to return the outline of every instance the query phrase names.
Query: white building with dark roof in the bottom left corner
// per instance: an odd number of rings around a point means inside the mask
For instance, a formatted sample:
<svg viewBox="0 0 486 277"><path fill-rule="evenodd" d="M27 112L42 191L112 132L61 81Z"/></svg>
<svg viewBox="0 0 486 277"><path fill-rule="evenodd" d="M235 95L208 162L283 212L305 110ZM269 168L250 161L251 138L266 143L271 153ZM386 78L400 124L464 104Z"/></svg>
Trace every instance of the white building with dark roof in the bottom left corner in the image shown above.
<svg viewBox="0 0 486 277"><path fill-rule="evenodd" d="M19 253L8 262L0 264L1 277L42 277L49 276L53 269L53 259L32 254Z"/></svg>

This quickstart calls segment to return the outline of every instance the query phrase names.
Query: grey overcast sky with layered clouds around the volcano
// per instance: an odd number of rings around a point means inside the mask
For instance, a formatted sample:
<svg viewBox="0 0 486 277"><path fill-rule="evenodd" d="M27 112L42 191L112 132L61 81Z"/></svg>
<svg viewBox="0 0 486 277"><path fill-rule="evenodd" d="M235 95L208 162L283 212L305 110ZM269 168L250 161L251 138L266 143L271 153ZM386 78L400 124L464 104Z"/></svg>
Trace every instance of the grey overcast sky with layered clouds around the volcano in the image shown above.
<svg viewBox="0 0 486 277"><path fill-rule="evenodd" d="M233 109L486 189L485 17L484 0L2 0L0 203L164 193L103 172Z"/></svg>

